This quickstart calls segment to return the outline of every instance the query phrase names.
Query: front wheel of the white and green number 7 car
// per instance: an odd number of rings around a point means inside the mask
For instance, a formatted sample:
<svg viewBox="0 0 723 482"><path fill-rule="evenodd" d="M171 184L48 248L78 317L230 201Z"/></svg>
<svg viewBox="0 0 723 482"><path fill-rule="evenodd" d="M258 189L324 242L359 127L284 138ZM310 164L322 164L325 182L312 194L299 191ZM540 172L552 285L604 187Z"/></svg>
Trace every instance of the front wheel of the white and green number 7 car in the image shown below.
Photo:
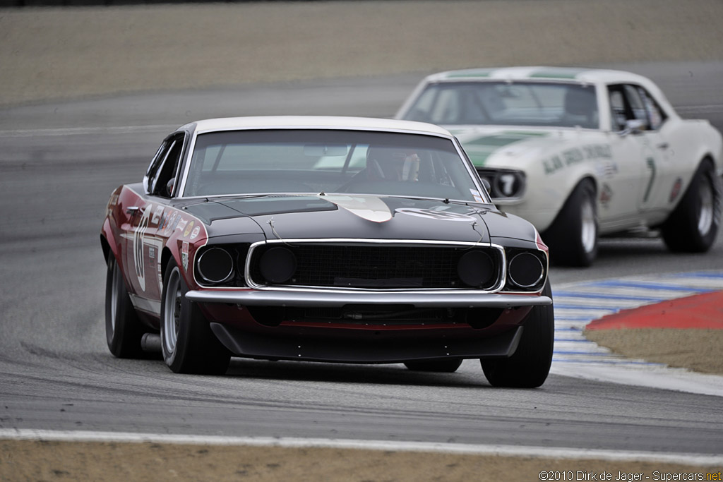
<svg viewBox="0 0 723 482"><path fill-rule="evenodd" d="M595 186L583 179L570 194L542 241L550 261L563 266L587 267L597 256L598 220Z"/></svg>

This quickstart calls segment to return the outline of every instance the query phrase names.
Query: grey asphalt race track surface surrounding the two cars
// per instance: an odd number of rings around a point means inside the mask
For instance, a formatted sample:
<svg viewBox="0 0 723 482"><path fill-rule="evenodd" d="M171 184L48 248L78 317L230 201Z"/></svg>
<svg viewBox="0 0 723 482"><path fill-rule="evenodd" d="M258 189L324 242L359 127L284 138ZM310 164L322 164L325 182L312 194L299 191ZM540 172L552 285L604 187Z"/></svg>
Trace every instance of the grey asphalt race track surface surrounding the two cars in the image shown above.
<svg viewBox="0 0 723 482"><path fill-rule="evenodd" d="M659 82L687 117L723 130L722 62L618 65ZM140 179L162 137L214 116L391 116L421 77L194 90L0 111L0 429L303 437L723 453L722 399L557 374L539 390L393 366L232 361L226 376L172 374L106 348L98 232L111 190ZM648 238L602 242L555 285L723 270Z"/></svg>

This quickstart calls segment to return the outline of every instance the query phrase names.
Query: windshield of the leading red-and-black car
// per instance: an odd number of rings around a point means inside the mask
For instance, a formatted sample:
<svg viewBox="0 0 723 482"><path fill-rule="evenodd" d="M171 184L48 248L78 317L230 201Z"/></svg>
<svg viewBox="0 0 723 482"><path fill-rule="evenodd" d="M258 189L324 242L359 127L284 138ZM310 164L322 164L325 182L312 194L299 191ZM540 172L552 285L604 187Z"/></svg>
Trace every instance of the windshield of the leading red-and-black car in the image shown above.
<svg viewBox="0 0 723 482"><path fill-rule="evenodd" d="M273 193L484 201L451 139L332 129L197 136L184 197Z"/></svg>

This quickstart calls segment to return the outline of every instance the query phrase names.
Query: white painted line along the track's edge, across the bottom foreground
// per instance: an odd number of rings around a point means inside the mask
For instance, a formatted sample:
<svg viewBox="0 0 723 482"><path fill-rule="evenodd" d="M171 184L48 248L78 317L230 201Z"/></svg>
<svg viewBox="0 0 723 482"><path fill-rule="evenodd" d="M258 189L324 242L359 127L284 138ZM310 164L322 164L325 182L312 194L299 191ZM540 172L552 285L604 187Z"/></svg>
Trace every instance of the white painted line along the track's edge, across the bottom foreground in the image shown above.
<svg viewBox="0 0 723 482"><path fill-rule="evenodd" d="M616 462L669 462L685 465L723 465L723 455L621 452L606 449L572 447L526 447L520 445L450 444L441 442L390 442L386 440L298 439L293 437L209 436L135 434L132 432L56 431L0 429L0 439L44 440L54 442L151 442L156 444L251 445L283 448L337 448L385 450L397 452L444 452L466 455L592 459Z"/></svg>

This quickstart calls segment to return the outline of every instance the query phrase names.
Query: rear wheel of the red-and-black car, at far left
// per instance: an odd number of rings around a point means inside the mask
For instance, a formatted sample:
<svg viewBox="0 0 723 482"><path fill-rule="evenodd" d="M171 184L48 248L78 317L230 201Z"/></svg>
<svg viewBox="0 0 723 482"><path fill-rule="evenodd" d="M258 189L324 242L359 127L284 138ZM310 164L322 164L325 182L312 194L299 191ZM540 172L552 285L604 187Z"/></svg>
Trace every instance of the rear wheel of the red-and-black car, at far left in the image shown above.
<svg viewBox="0 0 723 482"><path fill-rule="evenodd" d="M141 338L146 332L128 296L123 273L113 253L106 275L106 342L118 358L145 358Z"/></svg>

